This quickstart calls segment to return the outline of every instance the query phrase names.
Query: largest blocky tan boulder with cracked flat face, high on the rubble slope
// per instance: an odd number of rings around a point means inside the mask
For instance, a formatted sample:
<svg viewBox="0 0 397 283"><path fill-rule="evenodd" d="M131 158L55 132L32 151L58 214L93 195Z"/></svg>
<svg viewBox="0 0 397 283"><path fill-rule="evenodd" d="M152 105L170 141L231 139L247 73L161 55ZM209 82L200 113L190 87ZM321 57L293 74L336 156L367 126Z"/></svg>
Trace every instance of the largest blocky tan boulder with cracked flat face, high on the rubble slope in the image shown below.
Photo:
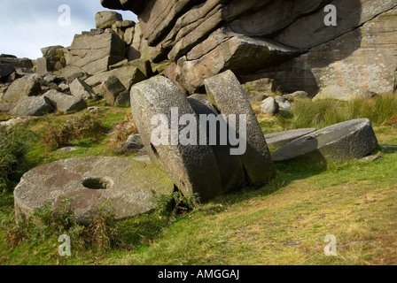
<svg viewBox="0 0 397 283"><path fill-rule="evenodd" d="M125 57L125 42L116 34L76 34L66 52L66 65L95 74L108 71L110 65Z"/></svg>

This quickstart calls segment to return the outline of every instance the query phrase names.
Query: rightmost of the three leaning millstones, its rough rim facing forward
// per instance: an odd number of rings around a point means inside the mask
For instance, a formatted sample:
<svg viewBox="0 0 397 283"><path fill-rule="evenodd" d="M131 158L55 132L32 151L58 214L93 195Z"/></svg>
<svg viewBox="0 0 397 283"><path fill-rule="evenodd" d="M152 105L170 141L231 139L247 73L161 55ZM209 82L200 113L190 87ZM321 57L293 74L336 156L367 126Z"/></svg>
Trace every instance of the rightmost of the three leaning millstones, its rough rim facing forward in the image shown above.
<svg viewBox="0 0 397 283"><path fill-rule="evenodd" d="M240 155L245 177L253 187L265 185L275 175L275 166L245 90L231 71L206 79L204 84L208 100L222 114L235 114L237 117L240 114L246 115L246 150ZM240 133L238 122L236 130Z"/></svg>

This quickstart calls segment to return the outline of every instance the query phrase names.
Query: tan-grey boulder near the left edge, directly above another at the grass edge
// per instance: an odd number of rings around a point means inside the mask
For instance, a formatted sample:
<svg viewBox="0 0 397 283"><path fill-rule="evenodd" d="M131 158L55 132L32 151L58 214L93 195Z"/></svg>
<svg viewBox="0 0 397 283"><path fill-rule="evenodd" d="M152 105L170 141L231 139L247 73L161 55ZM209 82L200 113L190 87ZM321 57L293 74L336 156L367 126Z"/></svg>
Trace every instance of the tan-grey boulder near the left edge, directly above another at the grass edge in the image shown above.
<svg viewBox="0 0 397 283"><path fill-rule="evenodd" d="M40 85L41 80L41 76L35 74L15 80L4 94L4 101L18 103L22 97L40 95L42 89Z"/></svg>

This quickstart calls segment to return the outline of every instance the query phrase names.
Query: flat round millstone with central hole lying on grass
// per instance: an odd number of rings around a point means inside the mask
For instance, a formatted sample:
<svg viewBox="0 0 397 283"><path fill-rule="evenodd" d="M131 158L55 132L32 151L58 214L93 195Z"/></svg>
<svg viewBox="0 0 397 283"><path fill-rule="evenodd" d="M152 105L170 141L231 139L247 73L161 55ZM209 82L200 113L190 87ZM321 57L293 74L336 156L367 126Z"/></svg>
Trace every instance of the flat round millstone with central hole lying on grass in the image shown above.
<svg viewBox="0 0 397 283"><path fill-rule="evenodd" d="M57 211L70 198L79 222L90 221L97 207L108 203L116 219L155 208L152 190L170 195L174 182L157 166L121 157L78 157L44 164L25 173L14 190L18 221L52 203Z"/></svg>

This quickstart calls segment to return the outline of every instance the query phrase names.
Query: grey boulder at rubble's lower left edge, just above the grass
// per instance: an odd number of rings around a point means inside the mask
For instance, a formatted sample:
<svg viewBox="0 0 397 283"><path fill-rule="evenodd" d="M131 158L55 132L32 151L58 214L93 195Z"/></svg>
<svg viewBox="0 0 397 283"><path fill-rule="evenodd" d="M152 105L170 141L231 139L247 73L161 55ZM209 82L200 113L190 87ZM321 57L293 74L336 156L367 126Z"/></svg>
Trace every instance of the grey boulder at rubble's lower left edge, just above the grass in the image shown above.
<svg viewBox="0 0 397 283"><path fill-rule="evenodd" d="M12 110L12 116L43 116L53 111L51 101L45 96L24 96Z"/></svg>

